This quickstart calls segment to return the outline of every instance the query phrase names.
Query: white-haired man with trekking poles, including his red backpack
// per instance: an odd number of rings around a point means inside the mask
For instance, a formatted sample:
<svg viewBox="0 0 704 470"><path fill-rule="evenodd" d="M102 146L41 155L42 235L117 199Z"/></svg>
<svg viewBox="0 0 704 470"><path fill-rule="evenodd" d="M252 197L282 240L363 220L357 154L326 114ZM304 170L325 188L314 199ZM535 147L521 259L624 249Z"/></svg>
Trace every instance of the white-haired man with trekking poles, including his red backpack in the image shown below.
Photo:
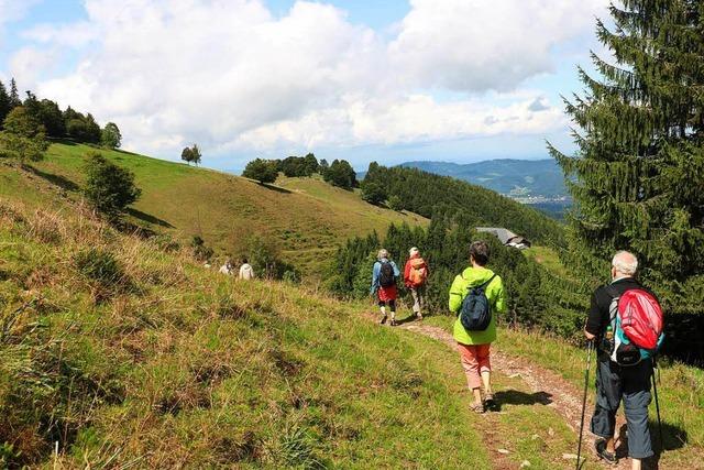
<svg viewBox="0 0 704 470"><path fill-rule="evenodd" d="M635 278L637 270L638 260L634 254L627 251L616 253L612 261L613 281L607 286L598 287L592 295L592 307L584 328L586 339L596 340L598 350L596 406L591 427L592 433L602 437L596 441L596 453L610 463L617 462L614 431L616 412L623 398L628 426L628 456L634 470L641 468L641 459L653 455L648 428L651 357L662 342L662 310L654 294ZM640 335L638 331L634 334L630 326L622 325L620 319L623 315L635 318L644 314L644 306L647 309L645 314L652 314L654 323L646 319L647 328ZM626 307L628 311L624 314ZM624 334L627 328L628 337ZM646 338L639 338L642 335ZM635 346L636 341L641 340L650 341L651 349Z"/></svg>

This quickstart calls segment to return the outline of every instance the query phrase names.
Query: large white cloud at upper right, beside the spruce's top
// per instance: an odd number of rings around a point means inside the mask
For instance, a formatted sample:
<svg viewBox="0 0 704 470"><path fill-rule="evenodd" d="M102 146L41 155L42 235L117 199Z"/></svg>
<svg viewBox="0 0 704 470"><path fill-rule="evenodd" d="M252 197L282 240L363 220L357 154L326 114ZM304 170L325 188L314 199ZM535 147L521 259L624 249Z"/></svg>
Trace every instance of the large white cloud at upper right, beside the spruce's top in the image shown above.
<svg viewBox="0 0 704 470"><path fill-rule="evenodd" d="M592 31L604 0L411 0L394 64L416 86L510 90L551 72L551 48Z"/></svg>

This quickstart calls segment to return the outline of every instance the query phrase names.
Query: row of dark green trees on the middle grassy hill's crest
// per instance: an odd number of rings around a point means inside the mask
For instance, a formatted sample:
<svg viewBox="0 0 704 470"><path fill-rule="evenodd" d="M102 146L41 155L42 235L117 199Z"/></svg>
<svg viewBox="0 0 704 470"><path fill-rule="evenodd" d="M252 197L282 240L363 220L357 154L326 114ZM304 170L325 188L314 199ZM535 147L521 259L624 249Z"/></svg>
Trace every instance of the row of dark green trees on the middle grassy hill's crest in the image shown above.
<svg viewBox="0 0 704 470"><path fill-rule="evenodd" d="M359 186L356 174L350 162L337 159L332 163L328 163L324 159L318 161L312 153L283 160L255 159L246 164L242 176L266 184L274 183L279 173L287 177L310 177L319 174L324 182L343 189L353 189Z"/></svg>

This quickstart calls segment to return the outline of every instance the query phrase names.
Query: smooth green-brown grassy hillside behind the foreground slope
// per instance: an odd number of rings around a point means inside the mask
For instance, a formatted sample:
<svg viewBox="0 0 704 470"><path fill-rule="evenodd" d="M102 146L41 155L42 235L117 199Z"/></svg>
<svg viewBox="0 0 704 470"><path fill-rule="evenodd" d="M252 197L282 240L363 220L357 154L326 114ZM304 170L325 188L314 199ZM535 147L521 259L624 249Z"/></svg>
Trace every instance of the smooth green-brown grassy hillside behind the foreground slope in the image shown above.
<svg viewBox="0 0 704 470"><path fill-rule="evenodd" d="M34 172L19 174L0 165L0 196L54 206L56 190L36 190L48 183L69 199L78 199L87 145L54 143ZM182 242L195 234L216 249L239 256L253 234L271 239L285 261L318 272L348 237L382 231L391 222L427 223L422 217L371 206L358 194L317 178L284 179L262 186L249 179L123 151L100 152L136 176L141 199L131 210L140 225L173 233Z"/></svg>

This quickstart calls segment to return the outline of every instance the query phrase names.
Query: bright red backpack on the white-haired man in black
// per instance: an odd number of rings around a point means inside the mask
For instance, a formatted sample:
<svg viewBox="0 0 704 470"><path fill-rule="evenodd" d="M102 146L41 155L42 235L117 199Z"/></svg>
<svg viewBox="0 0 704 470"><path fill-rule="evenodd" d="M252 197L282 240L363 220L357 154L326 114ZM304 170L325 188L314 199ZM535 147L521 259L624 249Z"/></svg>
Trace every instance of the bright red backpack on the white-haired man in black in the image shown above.
<svg viewBox="0 0 704 470"><path fill-rule="evenodd" d="M620 327L639 348L656 350L662 335L662 308L652 294L631 288L618 299Z"/></svg>

